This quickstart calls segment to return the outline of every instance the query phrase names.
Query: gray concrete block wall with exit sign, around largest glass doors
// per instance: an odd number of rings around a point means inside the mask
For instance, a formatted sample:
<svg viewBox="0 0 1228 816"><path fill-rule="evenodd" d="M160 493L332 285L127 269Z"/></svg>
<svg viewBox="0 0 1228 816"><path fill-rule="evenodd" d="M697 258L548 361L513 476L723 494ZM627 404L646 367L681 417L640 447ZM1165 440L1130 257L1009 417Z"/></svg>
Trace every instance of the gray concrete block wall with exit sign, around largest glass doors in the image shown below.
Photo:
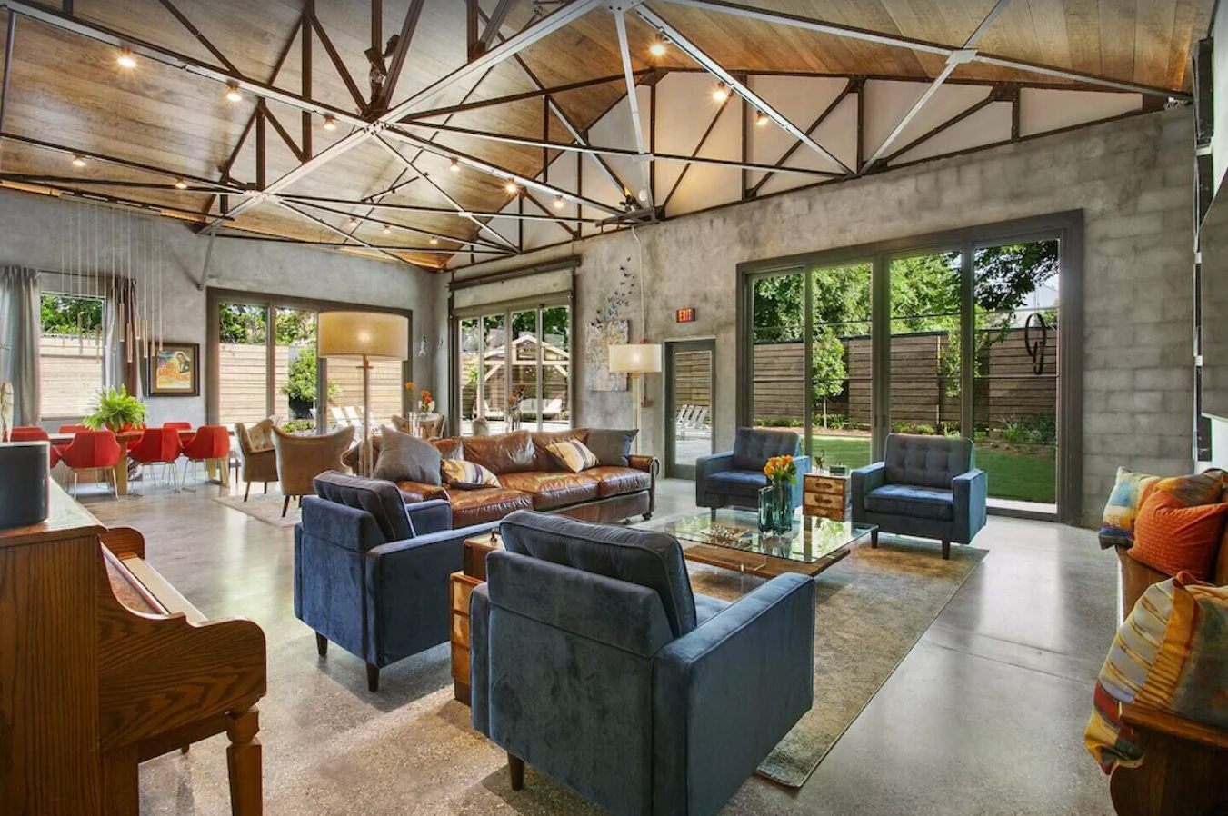
<svg viewBox="0 0 1228 816"><path fill-rule="evenodd" d="M1083 519L1094 524L1119 465L1189 472L1192 400L1192 115L1190 108L798 190L637 229L653 341L716 337L717 449L736 402L737 265L820 249L1083 210ZM576 348L618 268L637 258L630 232L465 269L486 274L578 253ZM674 309L699 319L675 324ZM637 304L625 314L640 335ZM583 360L573 375L583 382ZM442 369L441 369L442 371ZM659 375L647 382L646 447L664 449ZM722 410L725 406L725 410ZM577 423L626 427L630 393L576 389Z"/></svg>

